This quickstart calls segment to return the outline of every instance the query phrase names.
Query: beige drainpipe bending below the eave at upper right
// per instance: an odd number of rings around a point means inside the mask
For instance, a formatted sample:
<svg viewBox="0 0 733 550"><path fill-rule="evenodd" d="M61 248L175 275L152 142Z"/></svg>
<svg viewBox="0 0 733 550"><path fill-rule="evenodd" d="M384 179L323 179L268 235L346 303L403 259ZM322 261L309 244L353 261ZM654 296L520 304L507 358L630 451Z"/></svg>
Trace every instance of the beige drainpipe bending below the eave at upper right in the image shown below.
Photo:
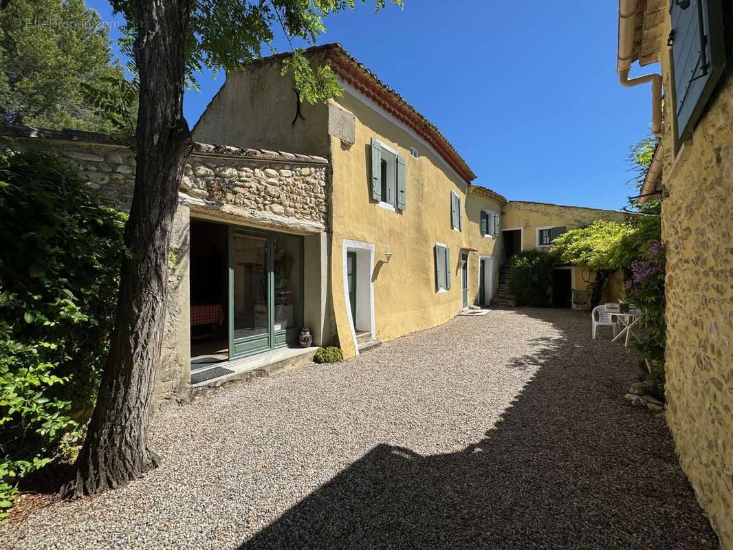
<svg viewBox="0 0 733 550"><path fill-rule="evenodd" d="M619 73L619 82L626 88L647 84L647 82L652 83L652 133L660 137L662 135L662 76L651 73L629 78L633 62L637 9L638 0L619 0L619 60L616 64L616 73Z"/></svg>

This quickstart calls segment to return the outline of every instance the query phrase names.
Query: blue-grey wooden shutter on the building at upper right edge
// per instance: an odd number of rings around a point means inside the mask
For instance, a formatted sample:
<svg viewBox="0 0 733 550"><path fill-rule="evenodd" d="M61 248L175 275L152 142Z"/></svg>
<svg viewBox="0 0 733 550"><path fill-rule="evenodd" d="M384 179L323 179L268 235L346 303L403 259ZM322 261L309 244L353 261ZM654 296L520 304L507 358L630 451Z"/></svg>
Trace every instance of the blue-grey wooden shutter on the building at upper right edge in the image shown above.
<svg viewBox="0 0 733 550"><path fill-rule="evenodd" d="M682 6L687 7L682 7ZM726 66L721 0L672 1L672 64L677 138L692 131Z"/></svg>

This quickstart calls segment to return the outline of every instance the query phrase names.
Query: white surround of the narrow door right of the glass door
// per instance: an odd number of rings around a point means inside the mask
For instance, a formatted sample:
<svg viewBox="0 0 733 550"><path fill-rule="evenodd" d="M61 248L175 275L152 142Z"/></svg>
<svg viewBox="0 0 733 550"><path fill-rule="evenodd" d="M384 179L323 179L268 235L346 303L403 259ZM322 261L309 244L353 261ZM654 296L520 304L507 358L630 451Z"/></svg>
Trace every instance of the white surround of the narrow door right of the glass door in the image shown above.
<svg viewBox="0 0 733 550"><path fill-rule="evenodd" d="M375 245L373 244L344 239L342 257L344 303L346 314L349 318L354 350L357 355L359 353L359 346L358 342L356 342L356 331L371 332L372 338L376 337L374 319L374 283L372 282L374 251ZM349 252L356 254L356 319L351 315L351 306L349 301L349 277L347 266L347 254Z"/></svg>

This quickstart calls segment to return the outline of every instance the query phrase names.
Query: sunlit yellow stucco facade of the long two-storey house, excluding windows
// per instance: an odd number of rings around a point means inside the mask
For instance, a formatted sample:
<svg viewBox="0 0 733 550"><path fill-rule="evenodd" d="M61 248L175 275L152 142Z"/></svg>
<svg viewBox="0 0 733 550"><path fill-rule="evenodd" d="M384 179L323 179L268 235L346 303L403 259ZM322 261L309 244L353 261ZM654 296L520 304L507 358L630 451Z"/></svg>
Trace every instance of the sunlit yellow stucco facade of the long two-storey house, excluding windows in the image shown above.
<svg viewBox="0 0 733 550"><path fill-rule="evenodd" d="M374 279L375 336L386 341L413 331L437 326L462 309L460 247L473 247L468 259L469 304L478 287L478 258L493 254L495 241L482 238L474 207L466 213L467 185L446 166L442 158L361 100L345 92L339 106L356 116L356 143L342 144L331 138L333 167L331 281L339 342L350 357L355 353L347 314L342 257L344 240L375 245ZM380 208L371 199L371 139L397 150L407 161L404 211ZM416 147L419 158L410 156ZM450 193L461 197L463 231L451 224ZM484 202L484 201L482 201ZM490 201L485 201L487 204ZM497 205L498 206L498 205ZM484 208L487 208L484 206ZM498 208L497 208L498 209ZM450 249L451 288L435 288L435 243ZM378 265L385 252L394 256Z"/></svg>

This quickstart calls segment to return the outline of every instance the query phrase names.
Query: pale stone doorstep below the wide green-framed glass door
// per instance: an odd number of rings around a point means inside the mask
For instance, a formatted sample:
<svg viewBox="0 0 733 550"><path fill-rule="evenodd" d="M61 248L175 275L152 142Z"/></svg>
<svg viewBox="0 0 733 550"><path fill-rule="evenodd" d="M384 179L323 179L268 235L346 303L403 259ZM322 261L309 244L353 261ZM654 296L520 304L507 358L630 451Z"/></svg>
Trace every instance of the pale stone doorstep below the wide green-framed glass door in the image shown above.
<svg viewBox="0 0 733 550"><path fill-rule="evenodd" d="M224 367L234 372L199 382L199 384L193 384L191 389L194 395L200 395L206 393L207 389L229 386L237 381L246 382L254 378L274 376L286 370L303 367L313 362L313 356L317 349L317 347L281 348L251 357L234 359L233 361L213 363L212 367Z"/></svg>

